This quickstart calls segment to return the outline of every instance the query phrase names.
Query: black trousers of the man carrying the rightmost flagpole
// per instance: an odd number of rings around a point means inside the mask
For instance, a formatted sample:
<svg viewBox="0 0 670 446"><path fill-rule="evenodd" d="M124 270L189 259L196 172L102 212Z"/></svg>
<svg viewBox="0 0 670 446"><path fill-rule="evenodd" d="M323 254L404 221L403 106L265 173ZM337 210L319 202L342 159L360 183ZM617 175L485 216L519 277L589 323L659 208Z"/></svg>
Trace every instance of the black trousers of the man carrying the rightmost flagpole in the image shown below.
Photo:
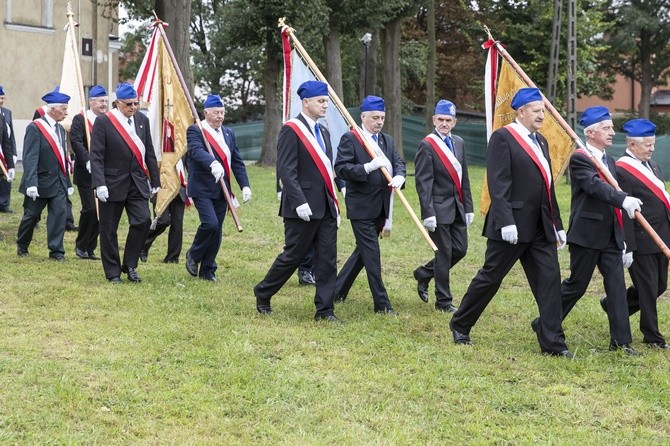
<svg viewBox="0 0 670 446"><path fill-rule="evenodd" d="M616 345L630 343L626 282L623 274L621 250L616 247L614 237L603 250L570 245L570 277L561 284L563 319L586 292L596 266L603 276L607 302L607 319L610 327L610 342Z"/></svg>

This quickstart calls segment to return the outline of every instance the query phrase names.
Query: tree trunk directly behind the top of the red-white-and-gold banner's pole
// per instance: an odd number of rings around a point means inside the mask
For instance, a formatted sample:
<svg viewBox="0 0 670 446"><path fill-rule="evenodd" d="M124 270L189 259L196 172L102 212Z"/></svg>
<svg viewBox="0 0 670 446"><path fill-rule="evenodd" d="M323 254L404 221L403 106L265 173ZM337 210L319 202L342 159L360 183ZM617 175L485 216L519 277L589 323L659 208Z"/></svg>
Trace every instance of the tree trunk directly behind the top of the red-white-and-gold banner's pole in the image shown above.
<svg viewBox="0 0 670 446"><path fill-rule="evenodd" d="M159 19L170 26L165 27L172 52L177 59L181 74L193 95L193 70L191 69L191 2L190 0L155 0L154 10Z"/></svg>

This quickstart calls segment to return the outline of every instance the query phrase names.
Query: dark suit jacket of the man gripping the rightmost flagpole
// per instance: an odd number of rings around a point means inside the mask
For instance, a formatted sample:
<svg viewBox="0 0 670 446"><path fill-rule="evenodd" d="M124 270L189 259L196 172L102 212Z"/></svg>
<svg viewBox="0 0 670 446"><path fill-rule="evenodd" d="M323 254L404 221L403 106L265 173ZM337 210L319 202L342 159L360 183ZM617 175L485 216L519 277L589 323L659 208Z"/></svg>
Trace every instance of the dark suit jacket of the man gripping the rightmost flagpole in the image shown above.
<svg viewBox="0 0 670 446"><path fill-rule="evenodd" d="M609 170L616 175L614 160L607 157ZM619 249L624 249L624 231L619 226L614 208L620 208L625 192L618 192L601 180L598 171L583 153L575 152L570 157L570 181L572 201L568 243L584 248L604 249L612 236ZM624 224L630 224L622 212Z"/></svg>

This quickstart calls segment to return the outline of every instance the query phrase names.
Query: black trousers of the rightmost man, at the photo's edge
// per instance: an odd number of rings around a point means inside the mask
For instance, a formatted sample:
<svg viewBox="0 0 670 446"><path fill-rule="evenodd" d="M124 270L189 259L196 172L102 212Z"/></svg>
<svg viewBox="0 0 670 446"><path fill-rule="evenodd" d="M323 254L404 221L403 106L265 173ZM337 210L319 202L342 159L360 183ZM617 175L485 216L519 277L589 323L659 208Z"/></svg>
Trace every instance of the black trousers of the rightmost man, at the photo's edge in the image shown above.
<svg viewBox="0 0 670 446"><path fill-rule="evenodd" d="M628 314L640 312L643 342L665 343L658 330L656 300L668 287L668 258L663 253L635 255L628 268L633 286L628 288ZM609 298L608 306L609 306Z"/></svg>

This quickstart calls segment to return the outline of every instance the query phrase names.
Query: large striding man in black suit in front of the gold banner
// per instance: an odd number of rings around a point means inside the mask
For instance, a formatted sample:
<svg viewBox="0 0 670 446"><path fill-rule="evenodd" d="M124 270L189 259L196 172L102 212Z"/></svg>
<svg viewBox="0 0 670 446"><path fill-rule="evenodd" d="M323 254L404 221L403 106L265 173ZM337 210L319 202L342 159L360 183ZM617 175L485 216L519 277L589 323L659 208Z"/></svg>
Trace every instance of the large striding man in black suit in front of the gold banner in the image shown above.
<svg viewBox="0 0 670 446"><path fill-rule="evenodd" d="M486 173L491 207L484 221L488 238L484 266L472 279L449 324L454 342L469 345L470 329L521 260L540 319L535 332L542 353L572 358L561 328L558 248L565 232L554 192L547 140L538 133L544 102L537 88L512 98L516 120L491 135Z"/></svg>

